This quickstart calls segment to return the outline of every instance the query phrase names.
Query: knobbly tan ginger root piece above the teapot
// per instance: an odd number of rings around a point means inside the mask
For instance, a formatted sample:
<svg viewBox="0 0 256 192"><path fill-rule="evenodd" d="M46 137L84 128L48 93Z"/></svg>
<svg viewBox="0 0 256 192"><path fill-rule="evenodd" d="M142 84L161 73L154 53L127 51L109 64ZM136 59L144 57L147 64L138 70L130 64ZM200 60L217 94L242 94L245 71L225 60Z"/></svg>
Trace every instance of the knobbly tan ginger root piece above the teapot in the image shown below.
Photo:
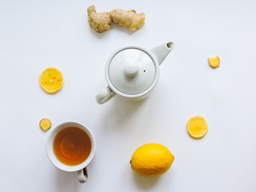
<svg viewBox="0 0 256 192"><path fill-rule="evenodd" d="M145 23L145 14L136 14L135 10L115 9L97 13L95 6L89 6L87 12L90 27L99 34L109 30L112 22L129 30L138 30Z"/></svg>

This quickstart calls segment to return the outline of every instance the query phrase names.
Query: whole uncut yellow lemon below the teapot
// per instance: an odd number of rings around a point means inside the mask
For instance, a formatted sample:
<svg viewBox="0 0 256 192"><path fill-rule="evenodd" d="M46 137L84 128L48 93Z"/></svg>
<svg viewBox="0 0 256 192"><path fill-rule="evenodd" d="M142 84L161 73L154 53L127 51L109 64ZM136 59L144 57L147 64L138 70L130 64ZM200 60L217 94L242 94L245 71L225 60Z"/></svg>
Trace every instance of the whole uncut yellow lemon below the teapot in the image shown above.
<svg viewBox="0 0 256 192"><path fill-rule="evenodd" d="M174 155L166 146L158 143L149 143L135 150L130 166L144 177L155 177L166 173L174 162Z"/></svg>

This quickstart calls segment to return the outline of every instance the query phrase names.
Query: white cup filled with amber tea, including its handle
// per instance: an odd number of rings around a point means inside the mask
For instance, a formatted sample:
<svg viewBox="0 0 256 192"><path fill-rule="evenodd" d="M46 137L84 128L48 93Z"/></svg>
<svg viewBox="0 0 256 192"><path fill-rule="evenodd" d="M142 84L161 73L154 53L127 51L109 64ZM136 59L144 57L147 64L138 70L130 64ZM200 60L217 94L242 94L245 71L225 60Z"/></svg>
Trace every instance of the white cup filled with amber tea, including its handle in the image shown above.
<svg viewBox="0 0 256 192"><path fill-rule="evenodd" d="M46 142L50 162L60 170L77 172L79 182L88 179L86 166L94 158L95 147L94 135L79 122L60 124Z"/></svg>

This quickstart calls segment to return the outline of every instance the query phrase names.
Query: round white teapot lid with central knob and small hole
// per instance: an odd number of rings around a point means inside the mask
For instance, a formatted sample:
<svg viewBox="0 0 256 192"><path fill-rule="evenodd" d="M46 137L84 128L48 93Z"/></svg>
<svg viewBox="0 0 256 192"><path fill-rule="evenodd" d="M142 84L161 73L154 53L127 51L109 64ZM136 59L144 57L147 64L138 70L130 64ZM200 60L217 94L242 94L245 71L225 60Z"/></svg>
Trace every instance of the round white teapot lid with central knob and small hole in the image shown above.
<svg viewBox="0 0 256 192"><path fill-rule="evenodd" d="M106 80L112 90L124 96L140 96L158 81L158 64L154 57L139 47L126 47L110 58Z"/></svg>

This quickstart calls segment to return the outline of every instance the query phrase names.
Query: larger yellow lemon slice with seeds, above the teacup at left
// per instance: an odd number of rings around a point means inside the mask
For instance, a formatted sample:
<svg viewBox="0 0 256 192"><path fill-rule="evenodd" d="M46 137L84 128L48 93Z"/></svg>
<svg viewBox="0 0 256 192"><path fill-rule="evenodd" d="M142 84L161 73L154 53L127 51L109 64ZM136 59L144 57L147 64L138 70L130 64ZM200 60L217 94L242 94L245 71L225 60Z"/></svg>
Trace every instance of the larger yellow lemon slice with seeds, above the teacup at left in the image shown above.
<svg viewBox="0 0 256 192"><path fill-rule="evenodd" d="M47 93L53 94L60 90L64 83L62 72L57 68L50 66L42 71L39 78L40 86Z"/></svg>

